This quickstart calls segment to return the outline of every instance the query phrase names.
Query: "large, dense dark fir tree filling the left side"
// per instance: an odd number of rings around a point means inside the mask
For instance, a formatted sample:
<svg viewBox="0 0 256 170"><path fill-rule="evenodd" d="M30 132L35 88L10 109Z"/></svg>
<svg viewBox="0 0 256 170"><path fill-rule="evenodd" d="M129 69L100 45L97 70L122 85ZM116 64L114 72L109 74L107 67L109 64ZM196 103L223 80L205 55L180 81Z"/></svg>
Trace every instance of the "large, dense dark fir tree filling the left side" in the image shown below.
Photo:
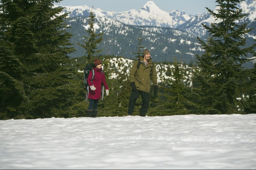
<svg viewBox="0 0 256 170"><path fill-rule="evenodd" d="M2 62L1 71L17 73L14 64L21 68L18 77L8 73L20 82L16 86L20 95L11 116L6 109L11 105L2 108L6 118L68 117L76 87L67 54L75 49L68 47L72 35L65 31L67 14L60 15L63 8L53 8L54 2L60 0L1 0L1 44L12 46L1 55L13 59Z"/></svg>

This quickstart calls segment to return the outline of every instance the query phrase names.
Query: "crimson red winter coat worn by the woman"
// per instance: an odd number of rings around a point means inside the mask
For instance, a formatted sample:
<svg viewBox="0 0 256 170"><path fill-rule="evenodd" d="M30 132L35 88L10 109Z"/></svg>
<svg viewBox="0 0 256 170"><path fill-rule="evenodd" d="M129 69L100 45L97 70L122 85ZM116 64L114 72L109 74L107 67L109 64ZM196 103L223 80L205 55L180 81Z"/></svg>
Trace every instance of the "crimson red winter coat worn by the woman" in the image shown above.
<svg viewBox="0 0 256 170"><path fill-rule="evenodd" d="M98 69L98 68L94 67L93 70L94 70L94 78L91 82L92 71L90 71L89 75L88 75L87 83L89 86L94 85L96 90L92 91L91 88L89 87L88 98L97 100L97 99L101 98L101 91L102 91L101 90L101 82L103 83L106 90L108 90L109 88L107 87L104 71L103 71L103 74L101 73L102 68Z"/></svg>

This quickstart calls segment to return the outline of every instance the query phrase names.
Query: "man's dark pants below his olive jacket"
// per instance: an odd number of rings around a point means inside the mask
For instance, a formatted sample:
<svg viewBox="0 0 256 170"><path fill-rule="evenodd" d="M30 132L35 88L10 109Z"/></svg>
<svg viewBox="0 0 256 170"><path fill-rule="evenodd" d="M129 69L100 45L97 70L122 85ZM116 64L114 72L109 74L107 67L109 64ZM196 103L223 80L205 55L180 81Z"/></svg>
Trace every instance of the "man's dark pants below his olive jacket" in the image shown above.
<svg viewBox="0 0 256 170"><path fill-rule="evenodd" d="M136 100L139 98L139 95L141 95L142 98L142 105L141 105L141 111L139 113L139 116L146 116L147 110L149 108L149 93L144 91L131 91L131 96L129 99L129 107L128 107L128 114L132 115L134 106L136 103Z"/></svg>

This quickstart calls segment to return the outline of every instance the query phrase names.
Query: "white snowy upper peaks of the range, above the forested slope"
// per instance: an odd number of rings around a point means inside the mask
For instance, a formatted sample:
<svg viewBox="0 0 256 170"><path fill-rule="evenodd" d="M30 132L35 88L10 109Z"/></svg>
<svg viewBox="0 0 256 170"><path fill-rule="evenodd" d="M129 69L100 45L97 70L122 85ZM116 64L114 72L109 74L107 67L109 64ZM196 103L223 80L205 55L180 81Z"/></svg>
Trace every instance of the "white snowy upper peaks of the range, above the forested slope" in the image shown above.
<svg viewBox="0 0 256 170"><path fill-rule="evenodd" d="M87 17L91 10L88 6L64 7L64 12L70 12L69 17ZM248 14L242 22L247 22L248 25L255 22L256 0L247 0L247 2L243 1L241 4L238 4L238 8L242 8L243 12ZM217 12L217 9L218 7L211 10ZM97 8L96 10L93 9L93 12L95 12L97 17L107 17L127 25L177 28L199 37L203 37L206 34L206 31L201 25L202 23L210 25L210 23L218 22L215 21L208 12L197 15L189 15L178 10L165 12L153 1L148 1L139 11L129 10L125 12L106 12Z"/></svg>

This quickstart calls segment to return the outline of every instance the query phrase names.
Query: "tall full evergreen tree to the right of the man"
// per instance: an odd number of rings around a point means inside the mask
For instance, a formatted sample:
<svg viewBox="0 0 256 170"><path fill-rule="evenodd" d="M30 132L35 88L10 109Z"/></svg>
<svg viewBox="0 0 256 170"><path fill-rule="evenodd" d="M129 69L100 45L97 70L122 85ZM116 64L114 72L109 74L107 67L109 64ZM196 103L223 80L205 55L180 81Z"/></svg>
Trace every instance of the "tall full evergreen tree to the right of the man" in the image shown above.
<svg viewBox="0 0 256 170"><path fill-rule="evenodd" d="M205 53L196 55L200 74L197 81L202 90L200 110L206 114L241 113L237 99L243 93L244 79L247 71L242 66L250 59L249 53L254 54L253 46L242 48L246 44L246 23L238 25L237 21L246 14L237 7L244 0L216 0L219 6L217 12L206 8L218 23L210 26L203 25L210 35L208 42L198 39Z"/></svg>

